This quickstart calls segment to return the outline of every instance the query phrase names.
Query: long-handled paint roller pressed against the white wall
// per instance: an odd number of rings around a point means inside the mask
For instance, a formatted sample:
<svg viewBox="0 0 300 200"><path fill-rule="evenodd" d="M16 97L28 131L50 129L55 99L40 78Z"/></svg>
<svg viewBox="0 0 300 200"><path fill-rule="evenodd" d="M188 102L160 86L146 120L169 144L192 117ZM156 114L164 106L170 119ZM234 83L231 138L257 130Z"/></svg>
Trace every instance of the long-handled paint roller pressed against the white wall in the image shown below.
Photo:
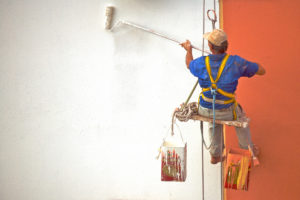
<svg viewBox="0 0 300 200"><path fill-rule="evenodd" d="M113 20L113 15L114 15L114 10L115 8L113 6L107 6L106 9L105 9L105 29L106 30L110 30L112 31L115 27L121 25L121 24L124 24L124 25L127 25L127 26L131 26L133 28L137 28L137 29L140 29L140 30L143 30L143 31L146 31L148 33L152 33L154 35L157 35L159 37L162 37L162 38L165 38L167 40L171 40L173 42L176 42L177 44L181 44L182 42L179 42L178 40L174 39L174 38L171 38L169 36L166 36L164 34L161 34L161 33L158 33L150 28L147 28L147 27L144 27L144 26L140 26L138 24L135 24L135 23L132 23L132 22L129 22L129 21L125 21L125 20L119 20L114 26L112 26L112 20ZM192 45L192 48L198 50L198 51L202 51L204 53L207 53L207 54L210 54L208 51L204 51L198 47L195 47Z"/></svg>

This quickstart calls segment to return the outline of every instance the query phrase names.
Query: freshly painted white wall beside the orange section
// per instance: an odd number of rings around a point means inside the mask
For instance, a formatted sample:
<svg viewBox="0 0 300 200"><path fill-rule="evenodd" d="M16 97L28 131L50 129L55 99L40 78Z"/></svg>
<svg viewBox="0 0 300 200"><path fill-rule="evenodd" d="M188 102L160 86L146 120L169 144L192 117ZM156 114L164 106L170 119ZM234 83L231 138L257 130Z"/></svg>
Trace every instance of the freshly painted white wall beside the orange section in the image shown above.
<svg viewBox="0 0 300 200"><path fill-rule="evenodd" d="M130 27L105 31L108 4L115 19L201 47L200 0L0 0L1 200L201 198L199 123L178 123L185 183L161 182L155 160L196 81L185 51ZM219 166L205 156L206 199L218 199Z"/></svg>

